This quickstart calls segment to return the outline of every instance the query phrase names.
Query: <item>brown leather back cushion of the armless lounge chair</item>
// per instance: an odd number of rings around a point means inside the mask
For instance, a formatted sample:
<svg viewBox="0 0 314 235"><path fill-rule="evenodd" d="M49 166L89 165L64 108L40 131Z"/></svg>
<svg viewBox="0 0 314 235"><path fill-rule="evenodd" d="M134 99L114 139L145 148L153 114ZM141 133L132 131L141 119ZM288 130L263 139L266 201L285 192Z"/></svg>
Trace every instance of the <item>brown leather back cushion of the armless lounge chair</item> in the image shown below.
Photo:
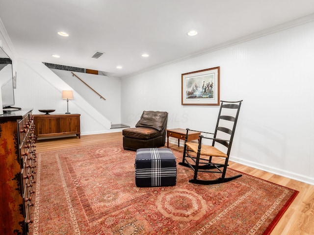
<svg viewBox="0 0 314 235"><path fill-rule="evenodd" d="M165 118L167 117L167 112L144 111L140 120L136 123L135 127L150 127L156 129L157 131L162 131L164 128L163 125Z"/></svg>

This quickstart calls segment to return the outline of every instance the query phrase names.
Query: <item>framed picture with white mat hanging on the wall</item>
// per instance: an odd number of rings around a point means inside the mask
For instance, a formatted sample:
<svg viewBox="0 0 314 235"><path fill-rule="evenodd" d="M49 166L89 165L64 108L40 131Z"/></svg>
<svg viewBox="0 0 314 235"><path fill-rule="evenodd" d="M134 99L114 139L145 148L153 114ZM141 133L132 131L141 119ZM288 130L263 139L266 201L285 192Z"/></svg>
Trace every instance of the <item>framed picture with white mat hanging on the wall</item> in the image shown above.
<svg viewBox="0 0 314 235"><path fill-rule="evenodd" d="M220 105L220 67L181 74L182 105Z"/></svg>

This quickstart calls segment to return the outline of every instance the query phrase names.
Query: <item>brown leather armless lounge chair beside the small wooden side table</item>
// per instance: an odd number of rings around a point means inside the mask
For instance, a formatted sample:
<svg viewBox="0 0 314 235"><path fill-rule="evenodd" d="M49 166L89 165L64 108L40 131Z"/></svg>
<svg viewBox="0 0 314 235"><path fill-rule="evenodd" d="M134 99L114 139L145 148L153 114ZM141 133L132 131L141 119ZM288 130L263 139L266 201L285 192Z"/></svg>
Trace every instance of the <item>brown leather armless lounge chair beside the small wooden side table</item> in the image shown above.
<svg viewBox="0 0 314 235"><path fill-rule="evenodd" d="M134 128L127 128L122 131L123 148L135 151L139 148L164 146L167 121L167 112L144 111Z"/></svg>

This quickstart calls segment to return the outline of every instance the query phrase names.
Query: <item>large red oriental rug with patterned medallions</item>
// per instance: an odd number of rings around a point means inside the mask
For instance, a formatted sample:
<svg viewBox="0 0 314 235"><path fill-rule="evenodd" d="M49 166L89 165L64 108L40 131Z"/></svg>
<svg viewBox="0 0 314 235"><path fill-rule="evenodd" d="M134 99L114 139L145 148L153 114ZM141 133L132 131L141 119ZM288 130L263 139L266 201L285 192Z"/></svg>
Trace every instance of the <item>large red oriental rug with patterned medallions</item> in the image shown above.
<svg viewBox="0 0 314 235"><path fill-rule="evenodd" d="M122 142L37 154L30 234L266 235L298 193L244 173L228 183L191 184L193 171L178 164L183 153L172 152L177 183L154 188L136 187L136 152Z"/></svg>

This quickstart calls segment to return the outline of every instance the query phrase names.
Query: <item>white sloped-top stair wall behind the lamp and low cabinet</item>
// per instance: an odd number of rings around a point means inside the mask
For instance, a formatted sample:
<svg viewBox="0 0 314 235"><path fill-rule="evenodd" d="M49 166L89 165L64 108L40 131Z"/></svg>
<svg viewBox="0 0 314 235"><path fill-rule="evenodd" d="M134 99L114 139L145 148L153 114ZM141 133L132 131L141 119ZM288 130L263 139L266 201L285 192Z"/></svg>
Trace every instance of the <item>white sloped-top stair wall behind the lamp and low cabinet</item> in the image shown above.
<svg viewBox="0 0 314 235"><path fill-rule="evenodd" d="M62 90L73 90L43 63L31 60L18 62L15 106L33 109L55 109L55 114L67 111L67 101L61 99ZM93 108L76 91L74 99L69 100L69 112L80 114L81 135L111 132L110 121ZM42 113L41 113L42 114Z"/></svg>

